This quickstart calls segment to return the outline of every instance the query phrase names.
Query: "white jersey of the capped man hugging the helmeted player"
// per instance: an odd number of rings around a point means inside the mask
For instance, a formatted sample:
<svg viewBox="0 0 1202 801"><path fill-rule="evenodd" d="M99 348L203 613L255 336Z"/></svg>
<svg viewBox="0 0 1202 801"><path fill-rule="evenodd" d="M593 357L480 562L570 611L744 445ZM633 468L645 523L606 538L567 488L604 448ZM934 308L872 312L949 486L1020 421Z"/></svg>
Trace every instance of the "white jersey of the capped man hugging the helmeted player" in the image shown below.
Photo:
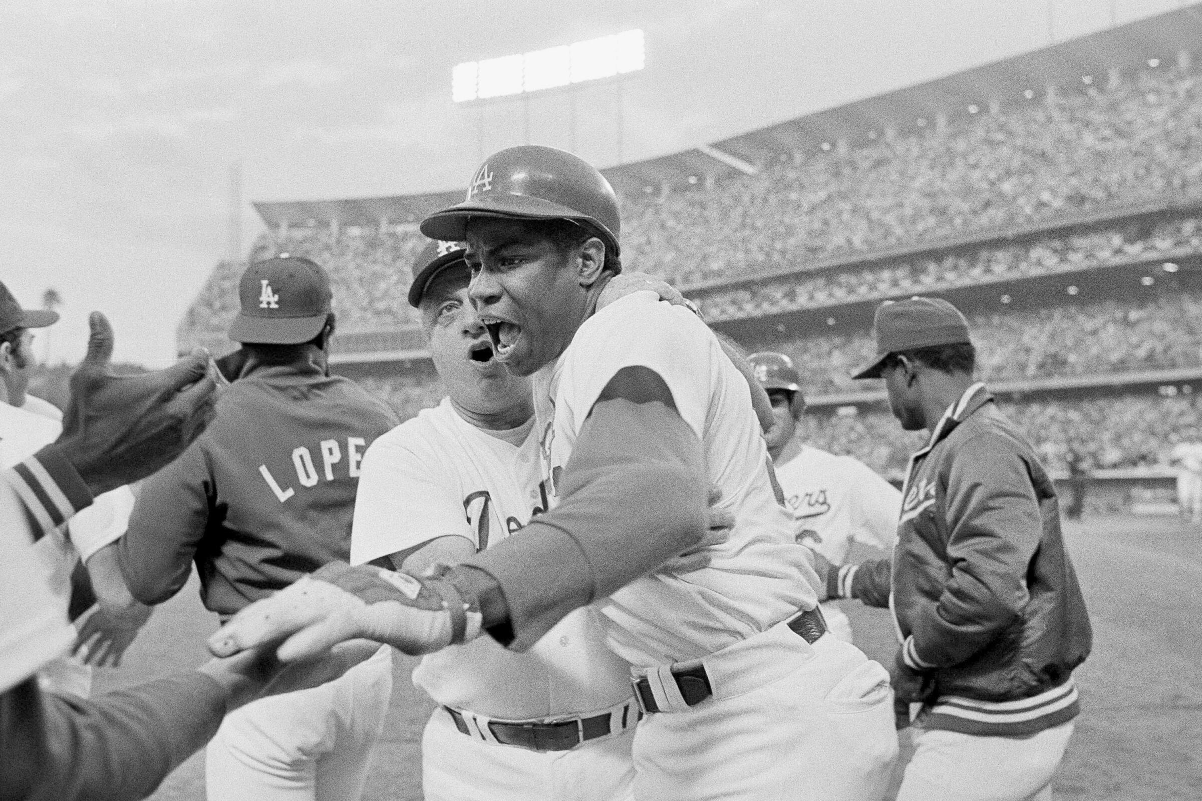
<svg viewBox="0 0 1202 801"><path fill-rule="evenodd" d="M444 399L379 437L363 458L351 562L448 534L482 550L522 528L546 501L532 420L517 434L511 440L520 444L477 429ZM631 692L630 666L605 647L589 609L570 614L525 653L489 636L432 653L413 683L440 704L511 721L593 712Z"/></svg>

